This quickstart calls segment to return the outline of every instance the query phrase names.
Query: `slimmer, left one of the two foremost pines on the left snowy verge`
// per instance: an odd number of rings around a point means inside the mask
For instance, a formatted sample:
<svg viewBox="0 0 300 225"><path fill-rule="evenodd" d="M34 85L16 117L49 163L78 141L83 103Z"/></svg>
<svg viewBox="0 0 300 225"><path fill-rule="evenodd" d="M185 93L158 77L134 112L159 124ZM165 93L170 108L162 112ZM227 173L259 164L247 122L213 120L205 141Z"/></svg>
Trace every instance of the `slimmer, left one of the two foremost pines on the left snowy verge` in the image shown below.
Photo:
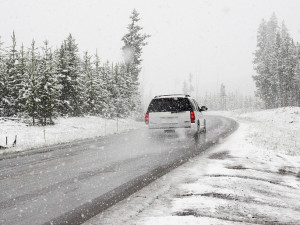
<svg viewBox="0 0 300 225"><path fill-rule="evenodd" d="M38 95L39 88L39 55L35 47L35 41L31 43L31 48L28 54L28 89L25 93L26 98L26 112L32 118L32 125L36 124L38 118L38 105L41 102Z"/></svg>

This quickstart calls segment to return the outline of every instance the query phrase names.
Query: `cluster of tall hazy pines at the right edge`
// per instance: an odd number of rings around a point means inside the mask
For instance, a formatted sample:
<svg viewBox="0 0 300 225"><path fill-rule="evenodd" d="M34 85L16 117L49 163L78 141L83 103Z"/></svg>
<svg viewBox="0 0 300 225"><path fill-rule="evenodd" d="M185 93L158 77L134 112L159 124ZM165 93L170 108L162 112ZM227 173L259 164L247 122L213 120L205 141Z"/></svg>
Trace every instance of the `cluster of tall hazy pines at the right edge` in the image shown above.
<svg viewBox="0 0 300 225"><path fill-rule="evenodd" d="M253 63L256 95L265 108L300 106L300 44L275 14L259 26Z"/></svg>

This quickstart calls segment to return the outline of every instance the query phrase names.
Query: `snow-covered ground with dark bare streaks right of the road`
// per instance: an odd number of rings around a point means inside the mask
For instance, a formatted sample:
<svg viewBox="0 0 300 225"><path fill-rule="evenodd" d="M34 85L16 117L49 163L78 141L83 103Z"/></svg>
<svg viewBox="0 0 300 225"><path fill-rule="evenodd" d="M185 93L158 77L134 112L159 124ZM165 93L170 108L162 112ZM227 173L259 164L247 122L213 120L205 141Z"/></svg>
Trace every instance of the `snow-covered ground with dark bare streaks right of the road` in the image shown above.
<svg viewBox="0 0 300 225"><path fill-rule="evenodd" d="M222 144L86 224L300 224L300 108L221 115Z"/></svg>

